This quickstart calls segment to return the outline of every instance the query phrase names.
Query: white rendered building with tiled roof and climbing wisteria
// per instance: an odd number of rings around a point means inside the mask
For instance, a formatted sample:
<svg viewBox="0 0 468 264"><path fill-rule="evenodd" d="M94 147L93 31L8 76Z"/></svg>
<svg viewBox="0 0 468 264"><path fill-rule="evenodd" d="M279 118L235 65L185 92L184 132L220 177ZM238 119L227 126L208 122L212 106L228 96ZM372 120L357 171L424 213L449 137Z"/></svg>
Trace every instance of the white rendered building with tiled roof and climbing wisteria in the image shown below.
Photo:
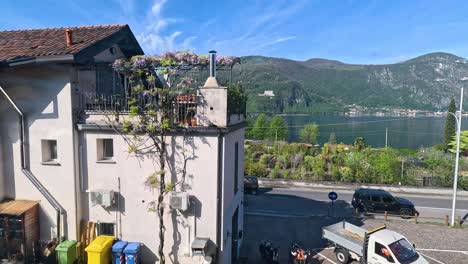
<svg viewBox="0 0 468 264"><path fill-rule="evenodd" d="M39 200L42 240L79 240L80 223L92 221L98 232L143 243L143 263L157 262L158 219L148 211L156 195L144 184L155 164L129 155L106 125L112 103L83 100L124 96L109 63L142 53L127 25L0 31L0 200ZM198 263L192 243L208 240L217 263L232 263L242 242L244 119L228 111L214 77L197 98L204 121L168 139L168 165L186 161L177 191L189 207L165 201L166 261ZM90 199L109 191L109 207Z"/></svg>

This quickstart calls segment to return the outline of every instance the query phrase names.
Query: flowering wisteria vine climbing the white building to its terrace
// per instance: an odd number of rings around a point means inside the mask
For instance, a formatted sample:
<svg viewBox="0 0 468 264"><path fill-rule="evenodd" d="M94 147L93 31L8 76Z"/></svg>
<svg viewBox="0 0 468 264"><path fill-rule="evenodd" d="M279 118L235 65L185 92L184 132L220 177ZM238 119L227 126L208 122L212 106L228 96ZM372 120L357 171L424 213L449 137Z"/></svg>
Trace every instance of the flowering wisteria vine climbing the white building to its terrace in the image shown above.
<svg viewBox="0 0 468 264"><path fill-rule="evenodd" d="M232 66L238 58L218 57L220 65ZM119 117L116 112L107 116L109 125L123 137L128 145L128 152L137 158L149 159L157 164L155 171L147 178L145 184L151 188L156 198L149 203L149 210L156 212L159 218L159 263L165 263L164 256L164 197L176 186L185 182L185 165L188 159L186 145L186 128L184 122L195 118L194 113L174 111L173 104L179 96L185 98L196 94L194 81L187 77L189 71L204 68L208 65L206 56L184 52L166 52L162 56L135 56L131 60L119 59L113 63L113 68L119 75L125 76L130 93L128 95L128 116ZM187 100L187 99L184 99ZM181 116L183 115L183 116ZM174 158L169 159L168 144L170 131L178 130L182 134L182 142L174 149L182 159L179 166ZM174 138L172 138L174 139ZM189 142L188 142L189 141ZM193 151L192 151L193 152ZM167 169L166 169L167 168ZM167 182L166 176L176 182Z"/></svg>

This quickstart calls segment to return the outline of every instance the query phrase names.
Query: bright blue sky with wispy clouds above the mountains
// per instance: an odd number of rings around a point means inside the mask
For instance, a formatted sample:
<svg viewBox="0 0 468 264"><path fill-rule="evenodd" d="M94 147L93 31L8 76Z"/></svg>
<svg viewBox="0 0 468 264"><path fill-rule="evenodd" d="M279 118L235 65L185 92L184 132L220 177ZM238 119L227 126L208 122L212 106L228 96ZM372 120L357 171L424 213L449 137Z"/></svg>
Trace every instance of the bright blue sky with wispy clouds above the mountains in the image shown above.
<svg viewBox="0 0 468 264"><path fill-rule="evenodd" d="M129 24L147 54L190 49L297 60L393 63L468 57L468 1L1 1L0 30Z"/></svg>

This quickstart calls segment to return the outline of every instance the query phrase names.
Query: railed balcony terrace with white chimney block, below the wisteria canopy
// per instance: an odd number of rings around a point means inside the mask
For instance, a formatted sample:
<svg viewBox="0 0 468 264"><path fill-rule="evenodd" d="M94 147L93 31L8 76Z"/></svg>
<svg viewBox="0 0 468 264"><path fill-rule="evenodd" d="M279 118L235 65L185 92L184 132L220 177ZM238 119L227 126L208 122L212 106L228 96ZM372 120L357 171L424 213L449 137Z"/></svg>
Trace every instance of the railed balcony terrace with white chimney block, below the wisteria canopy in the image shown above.
<svg viewBox="0 0 468 264"><path fill-rule="evenodd" d="M245 100L239 100L238 93L228 88L212 89L209 92L197 92L177 95L172 98L169 109L170 125L174 127L227 127L245 120ZM157 95L127 96L86 95L79 96L81 113L86 123L99 123L103 116L129 115L131 107L145 109L151 105L158 107ZM132 103L131 103L132 102Z"/></svg>

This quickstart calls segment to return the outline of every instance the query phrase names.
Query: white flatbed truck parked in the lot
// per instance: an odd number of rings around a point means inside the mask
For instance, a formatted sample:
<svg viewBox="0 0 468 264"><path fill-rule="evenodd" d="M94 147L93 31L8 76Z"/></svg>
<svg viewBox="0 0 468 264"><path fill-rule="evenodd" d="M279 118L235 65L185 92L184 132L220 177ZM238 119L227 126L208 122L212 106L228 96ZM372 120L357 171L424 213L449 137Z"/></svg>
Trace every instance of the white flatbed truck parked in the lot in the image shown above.
<svg viewBox="0 0 468 264"><path fill-rule="evenodd" d="M340 263L357 260L363 264L426 264L404 236L385 226L371 231L346 221L322 228L322 236L335 247Z"/></svg>

